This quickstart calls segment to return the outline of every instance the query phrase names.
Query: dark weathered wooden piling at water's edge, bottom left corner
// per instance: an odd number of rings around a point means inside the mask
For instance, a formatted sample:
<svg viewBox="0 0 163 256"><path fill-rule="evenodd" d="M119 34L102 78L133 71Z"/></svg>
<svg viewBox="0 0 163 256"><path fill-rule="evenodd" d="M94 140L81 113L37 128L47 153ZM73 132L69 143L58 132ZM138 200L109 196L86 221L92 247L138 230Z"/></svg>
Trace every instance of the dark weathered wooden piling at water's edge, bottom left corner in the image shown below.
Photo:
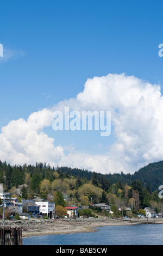
<svg viewBox="0 0 163 256"><path fill-rule="evenodd" d="M15 227L0 228L0 245L22 245L22 230Z"/></svg>

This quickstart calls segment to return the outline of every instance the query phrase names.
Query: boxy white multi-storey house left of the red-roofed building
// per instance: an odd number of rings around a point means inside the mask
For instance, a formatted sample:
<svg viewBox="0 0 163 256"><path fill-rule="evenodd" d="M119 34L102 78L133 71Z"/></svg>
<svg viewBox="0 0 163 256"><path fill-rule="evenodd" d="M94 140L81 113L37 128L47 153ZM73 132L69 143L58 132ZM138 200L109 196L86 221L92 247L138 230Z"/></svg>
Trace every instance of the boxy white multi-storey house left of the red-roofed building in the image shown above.
<svg viewBox="0 0 163 256"><path fill-rule="evenodd" d="M39 206L40 214L47 215L49 218L54 218L55 203L51 202L35 202Z"/></svg>

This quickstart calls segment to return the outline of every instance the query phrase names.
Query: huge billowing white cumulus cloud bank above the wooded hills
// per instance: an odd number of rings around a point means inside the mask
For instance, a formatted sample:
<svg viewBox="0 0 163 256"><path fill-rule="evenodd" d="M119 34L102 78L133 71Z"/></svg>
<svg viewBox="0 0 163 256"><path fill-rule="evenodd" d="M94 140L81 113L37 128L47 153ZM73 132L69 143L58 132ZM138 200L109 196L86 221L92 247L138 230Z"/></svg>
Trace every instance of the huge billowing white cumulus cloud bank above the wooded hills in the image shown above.
<svg viewBox="0 0 163 256"><path fill-rule="evenodd" d="M55 147L43 132L52 125L53 112L69 106L74 111L111 111L115 142L105 154L85 154ZM149 162L163 159L163 101L160 86L134 76L109 74L88 79L76 98L60 101L51 109L12 120L0 134L1 160L11 164L47 162L102 173L133 173Z"/></svg>

